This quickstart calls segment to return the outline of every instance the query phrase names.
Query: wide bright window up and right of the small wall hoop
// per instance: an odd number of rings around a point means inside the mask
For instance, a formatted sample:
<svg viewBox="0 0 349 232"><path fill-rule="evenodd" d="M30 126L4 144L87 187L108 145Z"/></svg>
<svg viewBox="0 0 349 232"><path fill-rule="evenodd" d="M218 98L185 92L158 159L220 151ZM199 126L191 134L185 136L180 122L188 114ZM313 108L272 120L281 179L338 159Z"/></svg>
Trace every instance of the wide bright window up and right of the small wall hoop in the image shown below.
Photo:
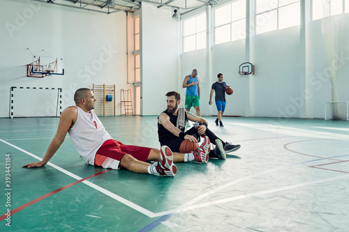
<svg viewBox="0 0 349 232"><path fill-rule="evenodd" d="M300 24L299 0L258 0L255 13L257 34Z"/></svg>

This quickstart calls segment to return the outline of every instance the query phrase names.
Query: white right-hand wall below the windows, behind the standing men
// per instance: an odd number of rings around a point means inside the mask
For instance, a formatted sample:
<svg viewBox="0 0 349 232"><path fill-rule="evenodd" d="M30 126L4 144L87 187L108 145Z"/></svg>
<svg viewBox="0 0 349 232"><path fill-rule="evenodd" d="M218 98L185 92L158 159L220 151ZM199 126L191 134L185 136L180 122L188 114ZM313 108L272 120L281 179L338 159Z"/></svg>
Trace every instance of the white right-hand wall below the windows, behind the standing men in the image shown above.
<svg viewBox="0 0 349 232"><path fill-rule="evenodd" d="M202 10L196 13L199 15ZM191 13L191 17L195 16ZM334 40L334 59L339 61L336 79L337 100L349 101L349 14L336 16L339 37ZM305 32L301 33L305 28ZM337 45L338 44L338 45ZM225 115L281 118L324 118L324 102L331 101L331 83L327 73L321 20L302 26L270 31L251 36L249 46L244 40L214 45L211 64L206 63L206 50L181 54L181 77L200 67L200 77L218 72L231 85L234 93L227 96ZM249 59L246 59L249 54ZM255 65L255 75L240 77L237 69L249 61ZM205 65L212 65L213 73L206 73ZM194 67L195 66L195 67ZM202 73L204 72L204 73ZM200 107L202 115L216 114L215 106L207 105L211 82L202 83ZM205 97L205 94L207 97ZM184 93L185 95L185 93ZM344 105L340 109L345 116Z"/></svg>

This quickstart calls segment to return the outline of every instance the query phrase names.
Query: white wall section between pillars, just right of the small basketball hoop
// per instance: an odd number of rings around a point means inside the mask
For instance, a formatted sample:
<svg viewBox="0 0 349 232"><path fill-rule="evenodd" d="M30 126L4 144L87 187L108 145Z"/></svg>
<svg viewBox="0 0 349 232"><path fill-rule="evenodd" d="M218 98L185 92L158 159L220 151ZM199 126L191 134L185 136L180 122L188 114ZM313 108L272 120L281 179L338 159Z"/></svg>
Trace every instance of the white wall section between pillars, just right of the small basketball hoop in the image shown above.
<svg viewBox="0 0 349 232"><path fill-rule="evenodd" d="M251 116L298 118L299 26L253 36L251 61ZM291 109L292 108L292 109Z"/></svg>

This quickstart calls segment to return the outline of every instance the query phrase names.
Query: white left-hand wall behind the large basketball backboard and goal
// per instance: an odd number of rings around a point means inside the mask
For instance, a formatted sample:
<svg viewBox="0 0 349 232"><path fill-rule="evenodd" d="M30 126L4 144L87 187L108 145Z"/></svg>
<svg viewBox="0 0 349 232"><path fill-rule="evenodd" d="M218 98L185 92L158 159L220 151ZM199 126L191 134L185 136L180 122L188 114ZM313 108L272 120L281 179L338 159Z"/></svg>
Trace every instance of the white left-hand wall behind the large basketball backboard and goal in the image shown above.
<svg viewBox="0 0 349 232"><path fill-rule="evenodd" d="M62 88L63 109L77 88L126 84L126 14L110 15L35 1L2 0L0 14L0 117L8 117L10 86ZM65 75L27 77L31 53L64 59ZM42 52L42 50L45 52ZM47 53L46 53L47 52ZM33 102L42 104L43 102ZM117 104L117 114L119 114Z"/></svg>

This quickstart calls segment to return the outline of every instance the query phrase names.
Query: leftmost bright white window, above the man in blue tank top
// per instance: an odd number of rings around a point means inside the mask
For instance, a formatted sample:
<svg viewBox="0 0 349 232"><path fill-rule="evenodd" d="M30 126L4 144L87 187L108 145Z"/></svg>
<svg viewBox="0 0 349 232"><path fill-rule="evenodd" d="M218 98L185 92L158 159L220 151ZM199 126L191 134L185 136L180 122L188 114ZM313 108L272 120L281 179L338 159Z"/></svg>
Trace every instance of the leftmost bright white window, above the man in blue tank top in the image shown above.
<svg viewBox="0 0 349 232"><path fill-rule="evenodd" d="M183 52L206 47L206 15L198 15L183 22Z"/></svg>

